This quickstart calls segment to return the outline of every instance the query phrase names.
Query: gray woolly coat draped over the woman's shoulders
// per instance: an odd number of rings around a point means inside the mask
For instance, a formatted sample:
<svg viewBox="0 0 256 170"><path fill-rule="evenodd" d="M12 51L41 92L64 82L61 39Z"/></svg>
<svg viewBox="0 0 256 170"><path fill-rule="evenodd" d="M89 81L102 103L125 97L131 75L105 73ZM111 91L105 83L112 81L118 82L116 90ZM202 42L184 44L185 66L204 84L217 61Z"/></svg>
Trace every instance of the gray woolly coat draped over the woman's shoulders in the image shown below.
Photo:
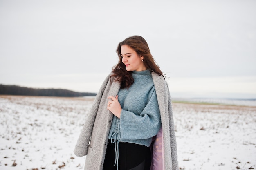
<svg viewBox="0 0 256 170"><path fill-rule="evenodd" d="M111 74L110 74L111 75ZM110 83L107 76L92 105L74 149L76 156L86 156L85 170L102 170L108 144L108 134L113 114L107 110L108 96L116 96L120 89L119 82ZM178 170L177 144L173 123L171 96L167 82L162 76L152 72L161 114L164 138L165 170Z"/></svg>

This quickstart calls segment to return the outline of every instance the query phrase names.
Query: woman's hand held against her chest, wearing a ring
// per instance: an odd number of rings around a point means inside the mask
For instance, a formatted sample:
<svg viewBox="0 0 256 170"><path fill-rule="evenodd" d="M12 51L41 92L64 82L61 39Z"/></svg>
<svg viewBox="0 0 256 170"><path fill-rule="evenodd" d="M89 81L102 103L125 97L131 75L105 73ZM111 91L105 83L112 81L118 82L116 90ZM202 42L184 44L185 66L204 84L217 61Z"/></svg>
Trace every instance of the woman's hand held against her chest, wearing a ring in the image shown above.
<svg viewBox="0 0 256 170"><path fill-rule="evenodd" d="M108 99L110 99L110 100L108 101L107 109L110 110L112 112L112 114L114 114L115 116L120 118L122 108L121 108L121 105L117 98L118 98L118 96L116 96L116 97L109 96L108 97Z"/></svg>

